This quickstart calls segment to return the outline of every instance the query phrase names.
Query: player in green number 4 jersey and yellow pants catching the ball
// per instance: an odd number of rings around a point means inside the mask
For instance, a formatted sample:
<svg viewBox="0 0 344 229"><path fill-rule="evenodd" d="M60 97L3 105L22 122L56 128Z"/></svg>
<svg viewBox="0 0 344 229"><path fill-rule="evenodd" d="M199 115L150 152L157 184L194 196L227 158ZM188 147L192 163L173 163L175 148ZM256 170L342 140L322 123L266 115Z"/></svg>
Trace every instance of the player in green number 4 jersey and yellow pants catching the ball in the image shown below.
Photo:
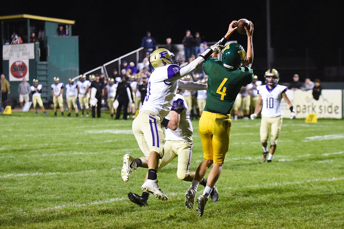
<svg viewBox="0 0 344 229"><path fill-rule="evenodd" d="M237 29L237 21L233 21L226 33L226 39ZM234 28L233 28L234 27ZM185 193L185 206L193 208L197 186L203 179L207 169L213 165L207 184L202 195L197 198L198 216L202 216L208 197L221 175L226 153L229 149L230 110L233 107L241 87L252 82L253 71L250 68L253 61L252 34L253 24L245 27L247 34L247 54L243 46L231 43L221 51L222 59L215 58L217 53L204 62L203 70L208 75L207 101L198 124L202 147L203 161L198 166L194 180Z"/></svg>

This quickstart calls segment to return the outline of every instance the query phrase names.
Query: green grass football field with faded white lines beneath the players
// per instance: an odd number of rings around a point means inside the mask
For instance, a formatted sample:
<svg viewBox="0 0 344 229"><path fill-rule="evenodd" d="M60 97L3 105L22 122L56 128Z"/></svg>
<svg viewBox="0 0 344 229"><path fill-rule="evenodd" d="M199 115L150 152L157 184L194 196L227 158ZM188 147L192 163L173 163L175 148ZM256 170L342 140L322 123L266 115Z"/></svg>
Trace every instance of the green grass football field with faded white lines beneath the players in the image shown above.
<svg viewBox="0 0 344 229"><path fill-rule="evenodd" d="M219 201L209 199L203 217L184 206L190 183L176 177L176 159L158 174L167 202L129 201L147 172L120 176L123 154L143 155L131 123L107 111L99 119L1 114L0 228L344 228L343 120L283 119L269 164L259 162L260 119L233 121ZM193 127L191 171L203 156L197 120Z"/></svg>

